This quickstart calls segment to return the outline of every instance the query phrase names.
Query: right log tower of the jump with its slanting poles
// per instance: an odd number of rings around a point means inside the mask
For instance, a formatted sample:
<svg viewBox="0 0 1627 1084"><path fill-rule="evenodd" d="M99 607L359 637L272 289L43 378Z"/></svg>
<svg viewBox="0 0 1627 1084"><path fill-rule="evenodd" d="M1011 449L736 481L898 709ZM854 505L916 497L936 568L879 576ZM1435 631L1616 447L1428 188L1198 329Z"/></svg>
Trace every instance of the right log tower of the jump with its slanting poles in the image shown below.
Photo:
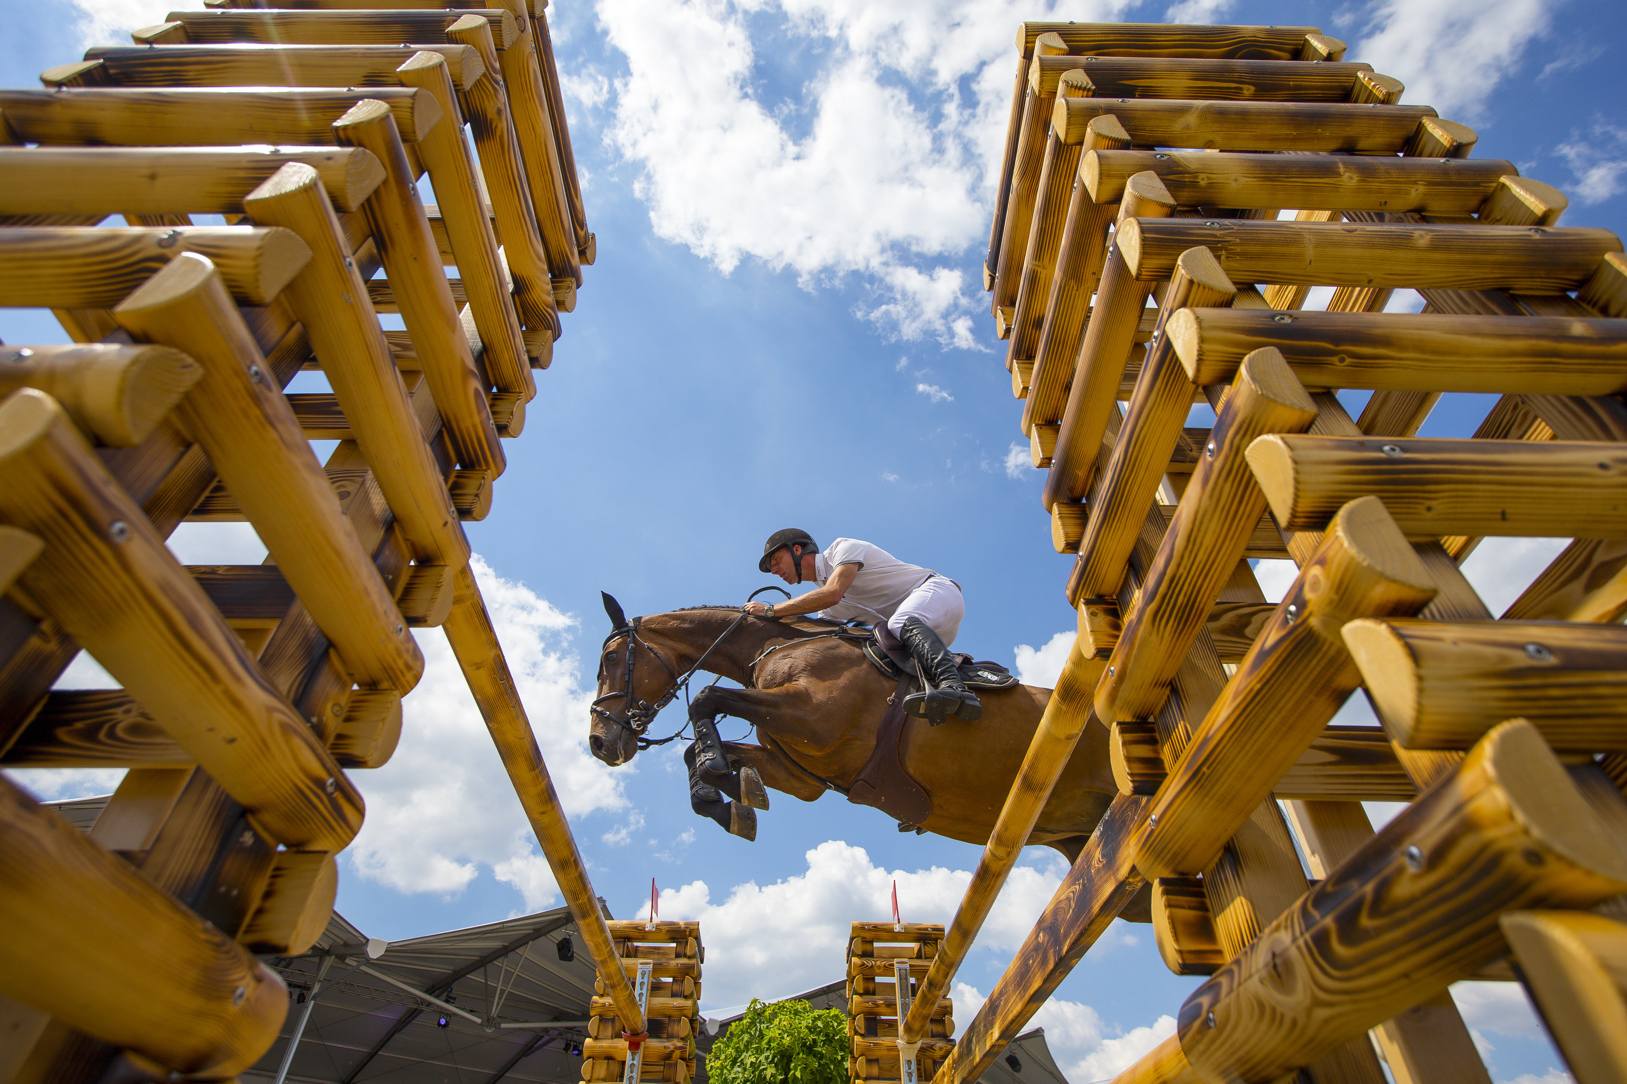
<svg viewBox="0 0 1627 1084"><path fill-rule="evenodd" d="M1578 1081L1627 1079L1620 241L1316 28L1017 49L984 284L1079 637L901 1038L1101 725L1121 793L937 1084L1144 887L1210 978L1121 1084L1376 1084L1375 1043L1401 1084L1489 1081L1446 986L1516 973ZM1417 437L1443 392L1500 398ZM1487 535L1573 541L1494 619L1459 570ZM1250 556L1298 564L1280 603ZM1359 687L1383 730L1329 728ZM1411 804L1375 834L1380 796Z"/></svg>

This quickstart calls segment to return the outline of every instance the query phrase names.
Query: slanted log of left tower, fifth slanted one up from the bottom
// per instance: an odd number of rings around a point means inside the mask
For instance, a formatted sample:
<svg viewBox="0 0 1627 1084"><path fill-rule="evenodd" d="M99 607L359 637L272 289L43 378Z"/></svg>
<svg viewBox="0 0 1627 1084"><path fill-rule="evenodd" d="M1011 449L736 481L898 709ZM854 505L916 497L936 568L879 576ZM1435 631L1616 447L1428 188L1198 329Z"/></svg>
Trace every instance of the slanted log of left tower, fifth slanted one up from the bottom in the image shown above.
<svg viewBox="0 0 1627 1084"><path fill-rule="evenodd" d="M395 120L382 106L363 104L335 122L334 132L340 143L363 146L384 163L386 179L366 206L373 239L459 465L496 478L508 458L491 426L486 388L441 273Z"/></svg>

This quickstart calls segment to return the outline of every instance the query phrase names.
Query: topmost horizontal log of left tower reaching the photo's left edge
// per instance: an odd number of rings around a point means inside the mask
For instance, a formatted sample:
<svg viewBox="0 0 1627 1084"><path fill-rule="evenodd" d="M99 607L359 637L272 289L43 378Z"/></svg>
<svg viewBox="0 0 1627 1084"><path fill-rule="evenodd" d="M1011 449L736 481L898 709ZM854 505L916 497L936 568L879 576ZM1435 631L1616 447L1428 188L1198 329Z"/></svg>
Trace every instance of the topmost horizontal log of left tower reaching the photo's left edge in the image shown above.
<svg viewBox="0 0 1627 1084"><path fill-rule="evenodd" d="M0 91L0 111L29 143L96 146L322 145L361 101L382 101L412 143L441 120L434 99L407 86Z"/></svg>

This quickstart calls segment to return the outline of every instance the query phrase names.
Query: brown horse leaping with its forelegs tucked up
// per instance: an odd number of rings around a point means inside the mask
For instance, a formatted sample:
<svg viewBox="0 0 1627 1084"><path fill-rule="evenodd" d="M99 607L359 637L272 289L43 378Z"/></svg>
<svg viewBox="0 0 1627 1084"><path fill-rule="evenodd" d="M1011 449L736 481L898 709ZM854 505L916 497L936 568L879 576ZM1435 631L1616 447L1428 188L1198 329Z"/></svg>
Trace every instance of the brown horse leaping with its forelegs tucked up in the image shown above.
<svg viewBox="0 0 1627 1084"><path fill-rule="evenodd" d="M827 790L846 791L875 751L896 684L864 658L857 642L831 635L838 629L833 622L740 621L739 606L695 606L636 619L630 635L615 600L605 596L605 606L612 626L620 627L599 658L599 699L587 739L605 764L633 759L639 749L635 726L648 725L677 678L696 663L745 686L706 687L690 705L691 720L732 715L757 728L761 744L726 743L737 777L734 787L718 785L737 800L739 777L750 778L748 772L804 801ZM1051 691L1019 684L979 696L978 722L950 718L931 726L908 717L898 746L905 770L932 800L931 816L918 827L976 845L994 829ZM1092 723L1028 842L1051 845L1072 861L1116 793L1108 731Z"/></svg>

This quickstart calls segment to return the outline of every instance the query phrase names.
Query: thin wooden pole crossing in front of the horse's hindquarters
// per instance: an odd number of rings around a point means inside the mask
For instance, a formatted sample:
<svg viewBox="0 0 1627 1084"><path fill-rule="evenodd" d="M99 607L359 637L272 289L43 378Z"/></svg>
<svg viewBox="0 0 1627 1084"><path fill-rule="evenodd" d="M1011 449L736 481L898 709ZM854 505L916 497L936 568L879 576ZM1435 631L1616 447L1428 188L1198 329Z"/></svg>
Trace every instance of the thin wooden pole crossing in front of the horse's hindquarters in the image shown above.
<svg viewBox="0 0 1627 1084"><path fill-rule="evenodd" d="M1040 725L1035 728L1028 752L1017 778L1012 780L1005 804L989 834L989 842L978 858L971 881L955 908L955 918L944 934L944 943L932 960L932 969L921 983L918 1001L905 1021L903 1037L914 1042L926 1035L931 1008L952 990L955 972L965 962L978 931L994 908L994 900L1005 886L1007 876L1022 856L1033 826L1040 821L1045 803L1049 801L1056 780L1067 767L1079 744L1079 736L1095 722L1090 713L1090 691L1101 678L1106 663L1080 650L1079 639L1069 648L1062 673L1058 676L1051 699L1045 705ZM1098 723L1100 725L1100 723Z"/></svg>

